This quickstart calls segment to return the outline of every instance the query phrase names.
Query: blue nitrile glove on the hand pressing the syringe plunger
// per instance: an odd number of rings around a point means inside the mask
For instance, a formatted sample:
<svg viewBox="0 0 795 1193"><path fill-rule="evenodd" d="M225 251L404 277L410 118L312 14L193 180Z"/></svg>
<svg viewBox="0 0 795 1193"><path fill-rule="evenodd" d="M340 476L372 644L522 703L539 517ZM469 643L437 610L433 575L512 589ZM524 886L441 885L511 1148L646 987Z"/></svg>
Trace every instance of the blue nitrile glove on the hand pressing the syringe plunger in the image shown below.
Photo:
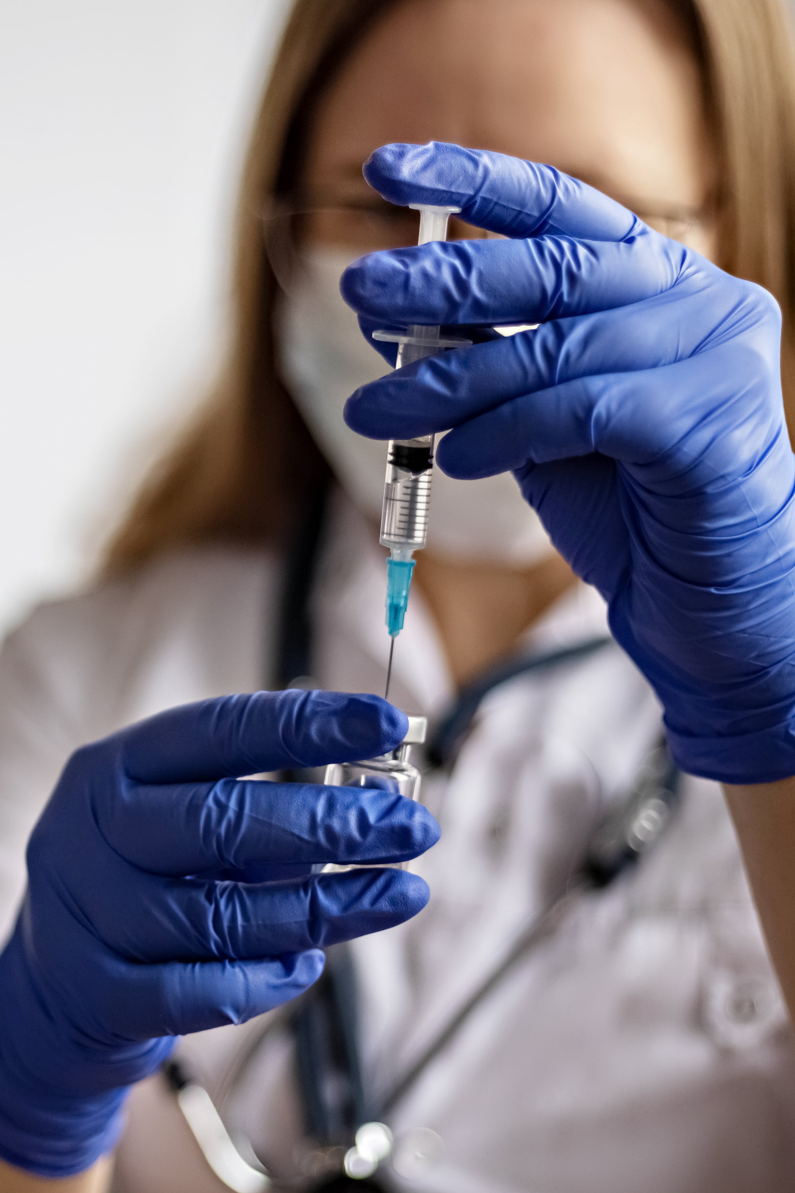
<svg viewBox="0 0 795 1193"><path fill-rule="evenodd" d="M460 206L510 237L354 262L342 293L365 333L544 326L364 387L348 425L453 427L437 450L451 476L513 470L609 602L677 764L729 783L795 774L795 470L774 299L546 166L393 144L365 175L393 203Z"/></svg>

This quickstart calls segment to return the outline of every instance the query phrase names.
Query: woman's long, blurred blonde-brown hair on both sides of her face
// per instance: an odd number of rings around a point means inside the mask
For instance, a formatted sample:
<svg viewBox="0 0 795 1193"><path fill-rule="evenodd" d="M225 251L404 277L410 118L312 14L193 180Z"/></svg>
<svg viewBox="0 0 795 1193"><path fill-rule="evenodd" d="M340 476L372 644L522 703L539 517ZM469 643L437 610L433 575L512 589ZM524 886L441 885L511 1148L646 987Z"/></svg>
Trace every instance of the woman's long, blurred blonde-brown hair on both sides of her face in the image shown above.
<svg viewBox="0 0 795 1193"><path fill-rule="evenodd" d="M352 45L397 2L294 4L243 172L226 363L210 400L153 470L113 536L106 573L178 545L284 544L327 483L328 466L277 371L277 282L260 212L268 196L296 186L319 95ZM778 299L784 391L795 402L795 52L783 0L669 2L702 64L715 129L721 265Z"/></svg>

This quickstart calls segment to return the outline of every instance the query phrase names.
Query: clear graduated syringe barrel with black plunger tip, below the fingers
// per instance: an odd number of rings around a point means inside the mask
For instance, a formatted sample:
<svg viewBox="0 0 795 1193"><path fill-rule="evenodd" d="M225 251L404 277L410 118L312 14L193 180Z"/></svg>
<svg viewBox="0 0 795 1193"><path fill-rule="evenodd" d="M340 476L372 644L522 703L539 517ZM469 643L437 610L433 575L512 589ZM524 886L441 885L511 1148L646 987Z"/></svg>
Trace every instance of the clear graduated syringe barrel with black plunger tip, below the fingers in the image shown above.
<svg viewBox="0 0 795 1193"><path fill-rule="evenodd" d="M433 464L434 435L390 440L380 540L395 557L405 549L410 558L426 545Z"/></svg>

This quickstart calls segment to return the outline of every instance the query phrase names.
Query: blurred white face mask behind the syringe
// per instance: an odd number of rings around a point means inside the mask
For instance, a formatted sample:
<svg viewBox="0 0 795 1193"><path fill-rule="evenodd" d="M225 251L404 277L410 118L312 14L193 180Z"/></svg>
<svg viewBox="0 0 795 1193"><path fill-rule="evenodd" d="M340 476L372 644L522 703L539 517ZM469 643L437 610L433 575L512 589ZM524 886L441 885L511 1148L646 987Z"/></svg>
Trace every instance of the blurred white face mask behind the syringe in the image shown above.
<svg viewBox="0 0 795 1193"><path fill-rule="evenodd" d="M278 310L281 372L317 445L362 513L380 519L386 444L350 431L342 418L355 389L391 372L340 293L354 258L335 249L302 256ZM509 472L454 481L434 469L428 550L461 561L529 567L553 550Z"/></svg>

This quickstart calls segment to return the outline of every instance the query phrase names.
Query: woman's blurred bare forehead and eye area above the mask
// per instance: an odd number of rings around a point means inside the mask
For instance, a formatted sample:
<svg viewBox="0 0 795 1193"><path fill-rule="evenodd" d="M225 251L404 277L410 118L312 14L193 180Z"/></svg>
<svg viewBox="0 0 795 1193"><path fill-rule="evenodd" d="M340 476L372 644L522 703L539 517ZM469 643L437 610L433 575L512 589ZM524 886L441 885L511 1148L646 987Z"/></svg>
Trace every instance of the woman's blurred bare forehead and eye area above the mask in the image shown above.
<svg viewBox="0 0 795 1193"><path fill-rule="evenodd" d="M373 149L431 140L557 166L715 258L702 84L664 0L403 0L321 100L304 188L366 203ZM384 239L373 218L354 209L306 231L364 251ZM416 241L400 218L385 245Z"/></svg>

